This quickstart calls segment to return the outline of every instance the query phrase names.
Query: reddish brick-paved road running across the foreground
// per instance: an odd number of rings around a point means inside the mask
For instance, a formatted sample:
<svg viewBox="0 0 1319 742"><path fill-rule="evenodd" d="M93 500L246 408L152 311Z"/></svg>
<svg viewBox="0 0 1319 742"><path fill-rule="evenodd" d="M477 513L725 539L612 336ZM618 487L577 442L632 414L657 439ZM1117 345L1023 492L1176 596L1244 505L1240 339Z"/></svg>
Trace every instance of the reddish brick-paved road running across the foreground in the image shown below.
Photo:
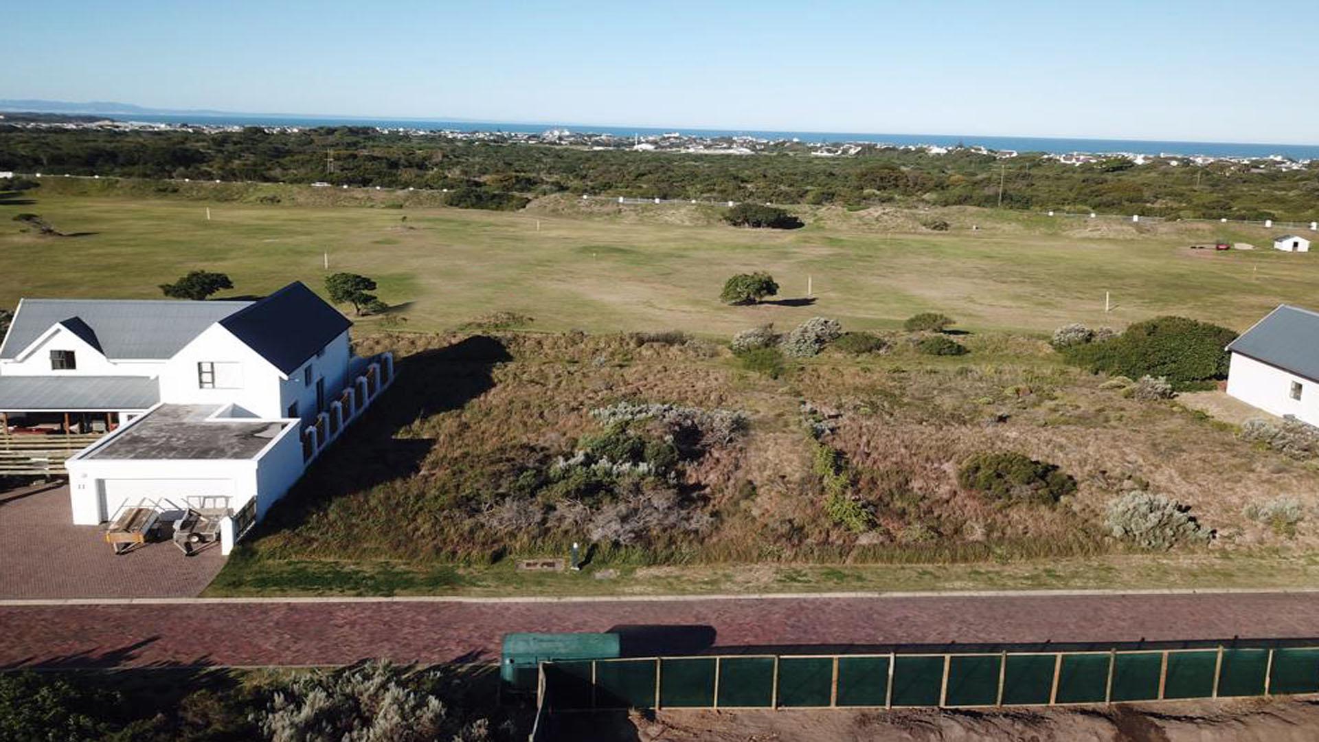
<svg viewBox="0 0 1319 742"><path fill-rule="evenodd" d="M1319 594L3 606L0 668L475 661L496 658L508 631L625 626L649 627L629 630L629 655L1233 638L1319 643Z"/></svg>

